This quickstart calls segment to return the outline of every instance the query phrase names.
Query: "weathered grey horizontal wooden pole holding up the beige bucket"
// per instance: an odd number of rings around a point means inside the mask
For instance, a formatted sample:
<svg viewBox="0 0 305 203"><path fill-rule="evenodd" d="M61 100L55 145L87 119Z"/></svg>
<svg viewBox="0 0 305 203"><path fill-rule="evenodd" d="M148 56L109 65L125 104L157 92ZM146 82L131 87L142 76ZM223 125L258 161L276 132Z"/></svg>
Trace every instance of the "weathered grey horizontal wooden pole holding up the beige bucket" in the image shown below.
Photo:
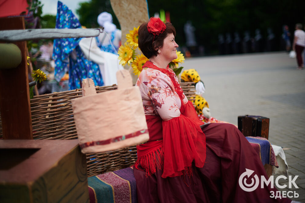
<svg viewBox="0 0 305 203"><path fill-rule="evenodd" d="M71 37L97 37L102 29L29 29L0 31L1 41L27 41Z"/></svg>

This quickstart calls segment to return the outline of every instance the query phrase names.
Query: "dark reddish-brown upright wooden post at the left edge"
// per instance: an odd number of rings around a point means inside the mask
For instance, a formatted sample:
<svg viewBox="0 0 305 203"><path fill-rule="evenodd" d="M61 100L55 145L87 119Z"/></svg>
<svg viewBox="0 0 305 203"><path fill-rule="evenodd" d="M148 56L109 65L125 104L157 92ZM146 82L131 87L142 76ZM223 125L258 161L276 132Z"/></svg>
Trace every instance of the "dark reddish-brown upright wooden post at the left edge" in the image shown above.
<svg viewBox="0 0 305 203"><path fill-rule="evenodd" d="M0 30L25 29L23 17L0 18ZM22 54L16 68L0 70L3 139L33 139L26 41L15 42Z"/></svg>

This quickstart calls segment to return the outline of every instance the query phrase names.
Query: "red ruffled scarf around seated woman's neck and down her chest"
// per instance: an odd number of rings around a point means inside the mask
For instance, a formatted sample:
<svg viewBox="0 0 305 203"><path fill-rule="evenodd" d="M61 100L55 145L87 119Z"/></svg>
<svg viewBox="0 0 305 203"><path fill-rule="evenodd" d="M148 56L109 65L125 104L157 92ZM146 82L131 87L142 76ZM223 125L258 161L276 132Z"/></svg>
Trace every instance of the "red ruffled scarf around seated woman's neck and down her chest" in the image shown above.
<svg viewBox="0 0 305 203"><path fill-rule="evenodd" d="M142 68L144 68L144 67L160 70L162 73L166 74L170 78L170 80L174 84L175 92L179 95L179 97L181 99L181 106L182 106L183 105L183 99L184 99L185 96L183 94L183 90L182 90L180 84L175 79L176 73L172 69L169 68L169 65L167 65L166 68L159 68L158 66L153 64L153 62L146 61L146 63L142 66Z"/></svg>

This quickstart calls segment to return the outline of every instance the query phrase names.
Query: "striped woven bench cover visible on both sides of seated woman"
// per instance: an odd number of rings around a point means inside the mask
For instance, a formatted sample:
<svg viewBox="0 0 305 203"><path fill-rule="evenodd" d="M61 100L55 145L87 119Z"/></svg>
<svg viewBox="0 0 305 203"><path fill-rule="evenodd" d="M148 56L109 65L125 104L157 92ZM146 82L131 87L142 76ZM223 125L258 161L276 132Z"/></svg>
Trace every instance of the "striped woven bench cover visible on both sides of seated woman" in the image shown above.
<svg viewBox="0 0 305 203"><path fill-rule="evenodd" d="M278 167L270 142L262 137L246 137L263 165ZM136 203L137 189L132 167L88 178L90 203Z"/></svg>

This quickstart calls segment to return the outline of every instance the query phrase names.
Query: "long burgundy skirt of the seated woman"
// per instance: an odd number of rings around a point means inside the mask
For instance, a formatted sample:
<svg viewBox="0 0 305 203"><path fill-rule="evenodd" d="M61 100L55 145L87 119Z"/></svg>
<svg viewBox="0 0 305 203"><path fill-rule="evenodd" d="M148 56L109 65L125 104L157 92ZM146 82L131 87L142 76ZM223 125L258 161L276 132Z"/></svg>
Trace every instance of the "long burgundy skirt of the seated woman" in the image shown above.
<svg viewBox="0 0 305 203"><path fill-rule="evenodd" d="M262 189L246 192L239 186L239 177L246 169L265 176L264 166L256 151L240 131L228 123L204 125L206 135L206 162L202 168L192 164L192 175L162 178L163 170L146 177L144 170L134 167L138 202L291 202L288 198L271 198L277 189L270 184ZM143 169L139 166L140 169ZM255 180L255 178L253 178Z"/></svg>

